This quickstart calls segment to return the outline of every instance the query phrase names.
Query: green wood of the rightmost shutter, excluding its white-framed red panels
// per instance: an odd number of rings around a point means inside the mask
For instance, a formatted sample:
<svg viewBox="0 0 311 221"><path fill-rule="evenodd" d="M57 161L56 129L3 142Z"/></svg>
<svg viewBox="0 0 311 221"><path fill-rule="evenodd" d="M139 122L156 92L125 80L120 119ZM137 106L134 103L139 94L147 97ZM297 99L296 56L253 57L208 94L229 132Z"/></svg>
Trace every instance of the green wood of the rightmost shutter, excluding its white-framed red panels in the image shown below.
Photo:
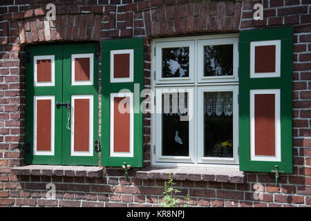
<svg viewBox="0 0 311 221"><path fill-rule="evenodd" d="M281 39L281 77L250 78L250 42ZM274 166L292 173L292 55L293 29L273 28L240 32L239 39L239 159L241 171L271 172ZM250 160L252 89L281 90L281 162Z"/></svg>

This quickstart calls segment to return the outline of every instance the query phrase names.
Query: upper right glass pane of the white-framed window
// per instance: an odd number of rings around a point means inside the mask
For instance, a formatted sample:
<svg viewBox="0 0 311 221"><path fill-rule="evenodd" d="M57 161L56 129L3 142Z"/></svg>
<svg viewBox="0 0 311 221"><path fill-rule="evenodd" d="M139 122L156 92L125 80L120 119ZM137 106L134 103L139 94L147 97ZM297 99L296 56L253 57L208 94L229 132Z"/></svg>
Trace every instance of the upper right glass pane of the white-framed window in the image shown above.
<svg viewBox="0 0 311 221"><path fill-rule="evenodd" d="M233 75L233 45L204 47L204 76Z"/></svg>

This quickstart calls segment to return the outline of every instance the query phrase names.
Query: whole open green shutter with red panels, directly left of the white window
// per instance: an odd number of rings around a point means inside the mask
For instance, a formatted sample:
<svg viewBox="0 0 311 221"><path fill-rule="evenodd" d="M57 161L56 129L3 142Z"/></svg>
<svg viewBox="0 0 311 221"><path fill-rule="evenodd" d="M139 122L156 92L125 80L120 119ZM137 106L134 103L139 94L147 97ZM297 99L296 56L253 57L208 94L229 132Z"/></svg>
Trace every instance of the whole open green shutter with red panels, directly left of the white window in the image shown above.
<svg viewBox="0 0 311 221"><path fill-rule="evenodd" d="M144 40L102 41L102 166L143 166L143 88Z"/></svg>

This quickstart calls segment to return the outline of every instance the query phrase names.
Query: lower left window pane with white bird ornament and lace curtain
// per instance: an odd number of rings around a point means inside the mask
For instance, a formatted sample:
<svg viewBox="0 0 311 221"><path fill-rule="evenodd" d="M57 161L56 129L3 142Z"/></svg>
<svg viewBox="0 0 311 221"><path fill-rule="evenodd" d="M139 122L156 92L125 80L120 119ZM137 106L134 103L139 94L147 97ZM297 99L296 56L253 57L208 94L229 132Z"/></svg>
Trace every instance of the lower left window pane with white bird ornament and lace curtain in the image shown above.
<svg viewBox="0 0 311 221"><path fill-rule="evenodd" d="M189 156L189 121L180 121L185 115L187 93L162 95L162 155Z"/></svg>

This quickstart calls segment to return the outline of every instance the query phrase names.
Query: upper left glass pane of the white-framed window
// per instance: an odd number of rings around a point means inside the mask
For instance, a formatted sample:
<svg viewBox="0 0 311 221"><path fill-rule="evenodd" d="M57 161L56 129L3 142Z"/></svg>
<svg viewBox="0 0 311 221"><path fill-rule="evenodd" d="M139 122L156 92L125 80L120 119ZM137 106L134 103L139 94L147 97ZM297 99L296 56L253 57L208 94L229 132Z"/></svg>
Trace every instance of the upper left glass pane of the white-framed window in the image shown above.
<svg viewBox="0 0 311 221"><path fill-rule="evenodd" d="M162 77L189 77L189 47L162 48Z"/></svg>

